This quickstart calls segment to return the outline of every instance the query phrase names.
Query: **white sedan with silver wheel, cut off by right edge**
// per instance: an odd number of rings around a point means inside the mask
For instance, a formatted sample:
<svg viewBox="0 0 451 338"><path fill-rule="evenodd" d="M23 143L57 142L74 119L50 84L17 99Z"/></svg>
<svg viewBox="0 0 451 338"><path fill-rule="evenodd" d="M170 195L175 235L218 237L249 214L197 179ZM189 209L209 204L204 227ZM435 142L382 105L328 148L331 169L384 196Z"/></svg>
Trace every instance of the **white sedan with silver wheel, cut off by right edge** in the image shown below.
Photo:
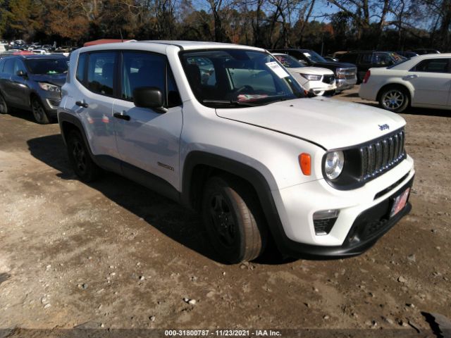
<svg viewBox="0 0 451 338"><path fill-rule="evenodd" d="M451 109L451 54L414 56L366 72L359 96L401 113L407 107Z"/></svg>

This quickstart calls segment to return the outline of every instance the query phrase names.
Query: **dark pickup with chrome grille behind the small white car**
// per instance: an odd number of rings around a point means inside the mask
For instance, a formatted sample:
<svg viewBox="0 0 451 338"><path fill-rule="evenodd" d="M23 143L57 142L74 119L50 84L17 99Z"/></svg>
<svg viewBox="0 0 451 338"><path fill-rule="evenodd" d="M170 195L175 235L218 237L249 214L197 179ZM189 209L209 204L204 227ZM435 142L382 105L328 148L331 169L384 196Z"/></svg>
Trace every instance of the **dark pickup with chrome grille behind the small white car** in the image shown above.
<svg viewBox="0 0 451 338"><path fill-rule="evenodd" d="M283 53L294 56L304 65L312 67L327 68L335 73L335 83L337 84L336 92L342 92L345 89L351 89L357 82L357 69L351 63L342 63L335 61L327 61L321 55L311 49L271 49L273 53Z"/></svg>

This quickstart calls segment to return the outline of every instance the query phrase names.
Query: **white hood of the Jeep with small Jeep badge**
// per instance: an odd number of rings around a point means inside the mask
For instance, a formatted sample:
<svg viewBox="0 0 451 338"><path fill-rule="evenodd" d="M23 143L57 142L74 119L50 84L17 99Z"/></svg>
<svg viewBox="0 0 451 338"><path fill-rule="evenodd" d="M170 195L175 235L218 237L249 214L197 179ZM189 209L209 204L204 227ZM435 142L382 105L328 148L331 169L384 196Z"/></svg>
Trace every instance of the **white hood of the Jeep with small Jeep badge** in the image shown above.
<svg viewBox="0 0 451 338"><path fill-rule="evenodd" d="M395 113L320 96L258 107L221 108L216 109L216 115L306 139L325 149L362 144L405 125L404 118Z"/></svg>

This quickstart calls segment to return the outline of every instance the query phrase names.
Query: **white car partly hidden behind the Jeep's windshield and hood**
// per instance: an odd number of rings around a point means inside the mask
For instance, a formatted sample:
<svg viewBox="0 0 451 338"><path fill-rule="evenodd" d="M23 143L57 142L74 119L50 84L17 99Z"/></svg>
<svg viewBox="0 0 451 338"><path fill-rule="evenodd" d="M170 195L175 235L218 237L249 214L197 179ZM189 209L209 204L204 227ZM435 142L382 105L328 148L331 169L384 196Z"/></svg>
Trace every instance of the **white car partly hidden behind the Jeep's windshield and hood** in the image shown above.
<svg viewBox="0 0 451 338"><path fill-rule="evenodd" d="M273 56L284 65L297 82L307 91L313 90L316 95L333 95L337 85L332 70L319 67L307 67L288 54L273 53Z"/></svg>

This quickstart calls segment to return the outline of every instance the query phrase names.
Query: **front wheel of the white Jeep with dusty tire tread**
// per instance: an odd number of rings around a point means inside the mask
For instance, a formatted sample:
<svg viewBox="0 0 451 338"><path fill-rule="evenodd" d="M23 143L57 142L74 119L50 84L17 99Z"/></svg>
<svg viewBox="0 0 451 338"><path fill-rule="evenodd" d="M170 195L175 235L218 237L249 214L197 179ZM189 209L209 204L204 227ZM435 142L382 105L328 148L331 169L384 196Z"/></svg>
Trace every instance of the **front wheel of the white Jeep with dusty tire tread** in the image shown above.
<svg viewBox="0 0 451 338"><path fill-rule="evenodd" d="M211 244L225 261L252 261L264 251L264 214L246 182L235 177L211 177L204 189L202 219Z"/></svg>

